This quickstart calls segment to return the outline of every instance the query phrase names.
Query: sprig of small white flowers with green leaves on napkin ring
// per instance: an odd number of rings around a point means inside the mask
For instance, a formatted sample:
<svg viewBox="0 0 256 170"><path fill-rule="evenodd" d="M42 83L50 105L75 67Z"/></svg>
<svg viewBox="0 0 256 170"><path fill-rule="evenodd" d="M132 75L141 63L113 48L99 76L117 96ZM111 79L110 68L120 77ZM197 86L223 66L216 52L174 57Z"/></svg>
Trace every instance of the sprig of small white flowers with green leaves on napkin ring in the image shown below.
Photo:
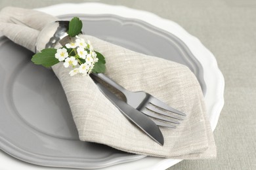
<svg viewBox="0 0 256 170"><path fill-rule="evenodd" d="M72 67L70 76L77 74L89 75L93 73L104 73L105 58L93 49L93 45L88 40L77 36L81 33L82 22L75 17L70 21L68 35L70 42L61 48L46 48L33 55L32 61L37 65L51 67L59 62L64 62L65 68Z"/></svg>

